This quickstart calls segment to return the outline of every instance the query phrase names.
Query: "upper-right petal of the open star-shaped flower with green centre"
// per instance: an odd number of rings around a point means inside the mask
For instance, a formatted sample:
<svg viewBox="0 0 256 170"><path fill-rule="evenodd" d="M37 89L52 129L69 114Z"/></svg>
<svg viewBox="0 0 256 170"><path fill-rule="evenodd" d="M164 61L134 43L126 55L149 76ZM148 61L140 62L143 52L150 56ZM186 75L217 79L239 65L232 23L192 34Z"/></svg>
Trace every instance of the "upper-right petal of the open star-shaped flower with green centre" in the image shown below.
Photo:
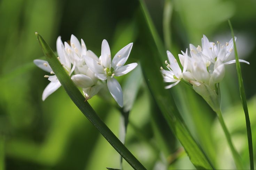
<svg viewBox="0 0 256 170"><path fill-rule="evenodd" d="M131 50L132 50L133 43L126 45L124 48L119 50L116 55L114 56L111 66L115 69L116 67L123 66L127 61Z"/></svg>

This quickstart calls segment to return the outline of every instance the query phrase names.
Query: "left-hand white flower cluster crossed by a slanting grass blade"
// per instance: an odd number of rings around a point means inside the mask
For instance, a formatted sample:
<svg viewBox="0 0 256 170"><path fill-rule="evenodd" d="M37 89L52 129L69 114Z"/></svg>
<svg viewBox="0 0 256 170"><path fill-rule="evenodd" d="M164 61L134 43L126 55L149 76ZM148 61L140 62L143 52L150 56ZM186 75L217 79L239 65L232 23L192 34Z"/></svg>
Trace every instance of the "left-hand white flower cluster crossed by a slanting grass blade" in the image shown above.
<svg viewBox="0 0 256 170"><path fill-rule="evenodd" d="M87 50L81 39L81 43L71 35L70 45L64 44L59 36L56 42L58 59L71 76L73 82L83 88L86 100L97 94L106 85L119 106L123 107L123 92L120 84L114 76L122 76L133 70L138 64L125 65L133 43L126 45L116 53L111 61L111 53L107 40L102 41L101 56L98 58L91 50ZM42 94L44 101L50 94L60 86L60 82L54 75L48 62L45 60L34 60L34 63L41 69L49 72L52 76L45 75L51 81Z"/></svg>

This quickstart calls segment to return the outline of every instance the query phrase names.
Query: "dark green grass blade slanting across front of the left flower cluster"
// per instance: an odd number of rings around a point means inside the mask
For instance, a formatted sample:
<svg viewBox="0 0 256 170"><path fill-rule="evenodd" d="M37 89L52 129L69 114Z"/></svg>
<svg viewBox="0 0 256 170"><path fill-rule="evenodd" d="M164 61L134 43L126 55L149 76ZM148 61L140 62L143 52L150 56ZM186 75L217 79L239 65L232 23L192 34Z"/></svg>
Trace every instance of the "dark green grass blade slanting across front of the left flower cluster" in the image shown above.
<svg viewBox="0 0 256 170"><path fill-rule="evenodd" d="M36 33L37 40L41 46L42 51L46 56L46 60L51 66L53 72L59 79L61 85L64 87L65 91L68 93L70 99L76 104L76 106L82 111L86 118L99 130L104 138L115 148L115 150L123 156L123 158L135 169L135 170L145 170L146 168L133 156L133 154L124 146L124 144L119 141L115 134L107 127L106 124L100 119L100 117L93 110L91 105L85 101L84 96L76 85L73 83L69 75L66 73L65 69L61 65L60 61L57 59L56 55L50 48L50 46L45 42L45 40Z"/></svg>

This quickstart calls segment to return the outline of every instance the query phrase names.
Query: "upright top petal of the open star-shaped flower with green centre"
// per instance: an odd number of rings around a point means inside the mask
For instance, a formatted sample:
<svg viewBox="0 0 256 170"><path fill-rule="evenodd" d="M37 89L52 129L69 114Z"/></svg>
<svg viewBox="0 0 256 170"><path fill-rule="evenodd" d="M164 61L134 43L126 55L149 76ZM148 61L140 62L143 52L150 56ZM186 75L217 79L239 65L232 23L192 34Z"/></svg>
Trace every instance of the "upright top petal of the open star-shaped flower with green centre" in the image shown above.
<svg viewBox="0 0 256 170"><path fill-rule="evenodd" d="M101 44L101 60L105 68L109 68L111 63L111 53L107 40L103 40Z"/></svg>

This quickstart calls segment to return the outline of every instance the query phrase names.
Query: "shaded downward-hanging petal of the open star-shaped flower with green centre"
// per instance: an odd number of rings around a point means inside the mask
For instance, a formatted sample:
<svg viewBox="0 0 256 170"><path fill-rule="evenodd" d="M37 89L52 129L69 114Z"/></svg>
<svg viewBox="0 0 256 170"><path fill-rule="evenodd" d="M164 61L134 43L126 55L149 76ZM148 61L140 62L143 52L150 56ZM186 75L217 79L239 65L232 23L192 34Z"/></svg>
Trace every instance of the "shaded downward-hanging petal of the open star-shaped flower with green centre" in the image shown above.
<svg viewBox="0 0 256 170"><path fill-rule="evenodd" d="M113 77L108 77L107 80L108 90L111 93L111 95L116 100L117 104L120 107L123 107L123 92L120 84L118 81Z"/></svg>

